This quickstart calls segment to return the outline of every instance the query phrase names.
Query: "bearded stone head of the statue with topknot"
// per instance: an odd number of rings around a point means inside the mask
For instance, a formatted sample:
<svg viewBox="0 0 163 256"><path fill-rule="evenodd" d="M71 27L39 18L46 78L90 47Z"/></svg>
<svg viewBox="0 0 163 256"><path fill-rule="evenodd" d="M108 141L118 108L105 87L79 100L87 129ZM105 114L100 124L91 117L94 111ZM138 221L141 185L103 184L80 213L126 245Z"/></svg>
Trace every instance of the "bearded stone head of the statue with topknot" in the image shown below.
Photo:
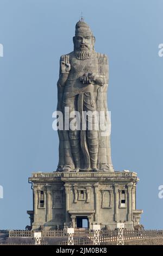
<svg viewBox="0 0 163 256"><path fill-rule="evenodd" d="M78 21L76 24L76 32L73 37L74 53L77 59L87 59L91 57L94 50L95 36L84 21Z"/></svg>

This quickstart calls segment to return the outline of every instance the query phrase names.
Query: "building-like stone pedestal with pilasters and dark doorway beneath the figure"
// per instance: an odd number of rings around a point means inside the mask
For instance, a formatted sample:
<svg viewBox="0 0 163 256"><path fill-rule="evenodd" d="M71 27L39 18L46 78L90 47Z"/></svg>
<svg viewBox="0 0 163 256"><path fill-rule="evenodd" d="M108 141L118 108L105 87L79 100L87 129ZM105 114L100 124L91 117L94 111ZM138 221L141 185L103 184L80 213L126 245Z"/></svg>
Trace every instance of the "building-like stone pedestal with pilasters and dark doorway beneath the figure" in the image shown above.
<svg viewBox="0 0 163 256"><path fill-rule="evenodd" d="M142 210L136 210L134 172L33 173L33 229L78 228L81 219L101 228L126 229L139 224Z"/></svg>

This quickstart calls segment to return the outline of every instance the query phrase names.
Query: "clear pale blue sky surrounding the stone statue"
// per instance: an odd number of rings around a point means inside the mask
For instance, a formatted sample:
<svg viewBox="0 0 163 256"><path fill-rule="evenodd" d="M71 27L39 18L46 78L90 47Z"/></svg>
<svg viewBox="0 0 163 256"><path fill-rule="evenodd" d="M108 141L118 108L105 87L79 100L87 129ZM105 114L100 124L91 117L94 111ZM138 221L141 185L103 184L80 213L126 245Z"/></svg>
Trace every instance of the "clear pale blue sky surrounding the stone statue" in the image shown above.
<svg viewBox="0 0 163 256"><path fill-rule="evenodd" d="M138 173L141 223L163 229L163 1L0 0L0 8L0 229L29 224L28 177L57 168L52 113L59 58L73 50L81 11L96 36L96 51L109 57L114 168Z"/></svg>

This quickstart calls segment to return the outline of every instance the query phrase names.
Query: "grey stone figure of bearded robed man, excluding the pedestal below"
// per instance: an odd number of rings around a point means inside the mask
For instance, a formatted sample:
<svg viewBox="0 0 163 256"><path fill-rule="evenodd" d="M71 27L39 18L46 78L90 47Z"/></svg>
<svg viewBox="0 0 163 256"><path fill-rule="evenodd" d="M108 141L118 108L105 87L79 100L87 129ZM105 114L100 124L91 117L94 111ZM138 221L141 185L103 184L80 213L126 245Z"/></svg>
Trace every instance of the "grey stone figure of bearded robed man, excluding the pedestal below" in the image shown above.
<svg viewBox="0 0 163 256"><path fill-rule="evenodd" d="M64 117L68 109L68 121L72 112L103 112L108 122L107 89L108 58L95 52L95 36L90 27L80 20L73 37L74 51L60 57L58 80L58 106ZM86 127L82 129L85 120ZM108 172L114 171L111 163L110 133L95 129L96 117L89 114L81 119L81 129L58 129L59 172ZM65 127L65 126L64 126Z"/></svg>

